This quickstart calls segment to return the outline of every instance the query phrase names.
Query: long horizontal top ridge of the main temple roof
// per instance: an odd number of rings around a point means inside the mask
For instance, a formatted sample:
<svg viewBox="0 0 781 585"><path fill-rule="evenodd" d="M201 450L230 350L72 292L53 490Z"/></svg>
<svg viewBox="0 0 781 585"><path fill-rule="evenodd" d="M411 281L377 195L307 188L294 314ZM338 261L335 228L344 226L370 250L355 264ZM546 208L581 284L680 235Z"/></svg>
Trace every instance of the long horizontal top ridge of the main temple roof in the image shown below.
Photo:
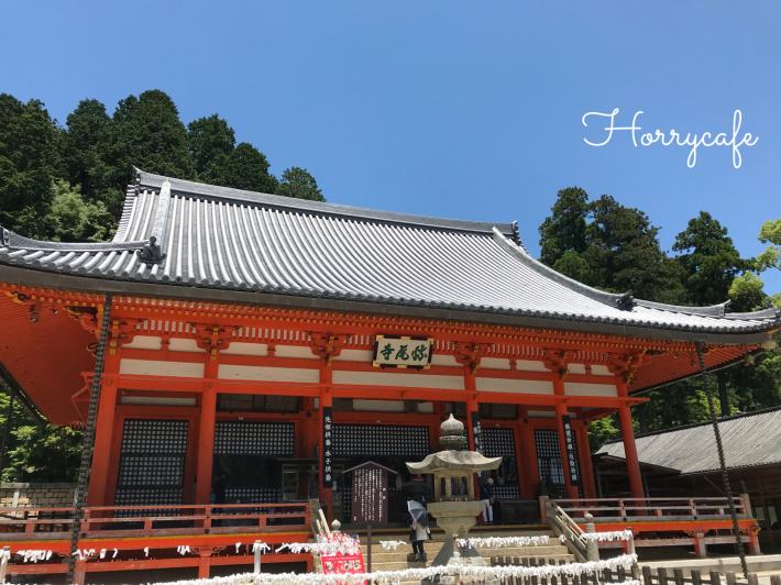
<svg viewBox="0 0 781 585"><path fill-rule="evenodd" d="M232 203L260 205L276 208L290 212L311 213L317 216L344 217L349 219L371 220L382 223L394 223L410 225L414 228L428 228L455 232L480 233L490 235L494 228L499 229L503 234L513 235L512 223L497 223L485 221L471 221L448 218L433 218L429 216L416 216L411 213L400 213L397 211L382 211L339 203L327 203L322 201L310 201L307 199L295 199L279 195L263 194L257 191L245 191L231 187L219 187L206 183L197 183L185 179L165 177L146 173L138 167L135 169L135 184L128 187L127 197L138 195L143 187L158 190L165 181L170 183L172 195L196 195L207 199L222 200ZM132 191L131 191L132 189Z"/></svg>

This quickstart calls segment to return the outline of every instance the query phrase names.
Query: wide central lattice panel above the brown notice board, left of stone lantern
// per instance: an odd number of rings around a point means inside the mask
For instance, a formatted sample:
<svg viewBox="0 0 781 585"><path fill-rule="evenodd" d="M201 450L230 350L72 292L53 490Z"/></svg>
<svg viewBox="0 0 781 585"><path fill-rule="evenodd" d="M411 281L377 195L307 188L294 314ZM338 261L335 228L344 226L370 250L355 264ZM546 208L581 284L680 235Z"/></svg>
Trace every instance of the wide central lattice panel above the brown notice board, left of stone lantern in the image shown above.
<svg viewBox="0 0 781 585"><path fill-rule="evenodd" d="M334 424L332 448L334 456L425 457L429 454L429 428Z"/></svg>

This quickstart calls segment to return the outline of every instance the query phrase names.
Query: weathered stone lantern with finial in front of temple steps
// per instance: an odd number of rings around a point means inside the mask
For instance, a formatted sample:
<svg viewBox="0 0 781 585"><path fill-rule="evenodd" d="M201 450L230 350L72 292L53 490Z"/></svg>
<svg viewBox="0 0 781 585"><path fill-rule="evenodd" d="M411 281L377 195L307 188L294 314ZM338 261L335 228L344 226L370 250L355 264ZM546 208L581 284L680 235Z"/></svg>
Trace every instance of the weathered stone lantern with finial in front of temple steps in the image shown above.
<svg viewBox="0 0 781 585"><path fill-rule="evenodd" d="M433 475L435 501L427 506L437 526L444 530L444 544L433 560L432 566L447 564L485 565L483 558L473 548L466 548L460 556L453 547L453 539L466 538L470 529L477 523L477 515L483 511L483 503L474 494L473 474L496 470L502 457L484 457L476 451L461 451L466 443L464 426L452 415L440 427L439 442L446 451L431 453L420 463L407 463L410 473Z"/></svg>

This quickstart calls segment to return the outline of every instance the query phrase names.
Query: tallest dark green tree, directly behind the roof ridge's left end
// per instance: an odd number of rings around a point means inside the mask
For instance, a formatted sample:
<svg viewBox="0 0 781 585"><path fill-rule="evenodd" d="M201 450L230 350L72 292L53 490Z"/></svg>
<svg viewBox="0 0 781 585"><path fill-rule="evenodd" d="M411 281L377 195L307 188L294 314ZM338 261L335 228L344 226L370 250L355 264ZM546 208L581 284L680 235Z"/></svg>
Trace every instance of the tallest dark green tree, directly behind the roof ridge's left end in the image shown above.
<svg viewBox="0 0 781 585"><path fill-rule="evenodd" d="M158 89L120 100L96 152L97 162L89 173L95 194L116 221L133 180L133 165L166 177L195 178L187 130L174 101Z"/></svg>

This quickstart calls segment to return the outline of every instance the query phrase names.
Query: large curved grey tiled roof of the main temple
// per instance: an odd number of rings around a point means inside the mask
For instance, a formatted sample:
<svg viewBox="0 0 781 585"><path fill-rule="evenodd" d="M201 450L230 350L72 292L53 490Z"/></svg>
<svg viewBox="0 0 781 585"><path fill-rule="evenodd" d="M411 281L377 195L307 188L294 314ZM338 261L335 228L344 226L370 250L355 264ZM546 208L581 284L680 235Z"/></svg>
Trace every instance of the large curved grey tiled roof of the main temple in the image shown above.
<svg viewBox="0 0 781 585"><path fill-rule="evenodd" d="M147 261L154 238L165 254ZM154 252L154 246L153 252ZM139 172L110 243L2 232L0 264L131 283L711 333L778 325L603 292L534 260L515 224L425 218L253 194Z"/></svg>

